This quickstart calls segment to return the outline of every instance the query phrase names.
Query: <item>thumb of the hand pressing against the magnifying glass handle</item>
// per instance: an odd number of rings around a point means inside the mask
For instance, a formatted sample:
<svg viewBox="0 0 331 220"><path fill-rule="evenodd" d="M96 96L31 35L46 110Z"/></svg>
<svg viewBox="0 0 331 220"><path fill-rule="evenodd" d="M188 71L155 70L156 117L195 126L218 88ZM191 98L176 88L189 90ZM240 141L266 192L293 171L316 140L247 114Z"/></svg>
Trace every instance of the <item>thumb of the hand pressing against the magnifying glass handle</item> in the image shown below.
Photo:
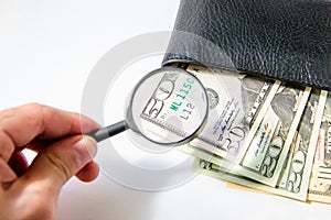
<svg viewBox="0 0 331 220"><path fill-rule="evenodd" d="M61 140L41 151L21 179L38 182L40 187L57 191L93 161L96 152L97 143L90 136L76 135Z"/></svg>

